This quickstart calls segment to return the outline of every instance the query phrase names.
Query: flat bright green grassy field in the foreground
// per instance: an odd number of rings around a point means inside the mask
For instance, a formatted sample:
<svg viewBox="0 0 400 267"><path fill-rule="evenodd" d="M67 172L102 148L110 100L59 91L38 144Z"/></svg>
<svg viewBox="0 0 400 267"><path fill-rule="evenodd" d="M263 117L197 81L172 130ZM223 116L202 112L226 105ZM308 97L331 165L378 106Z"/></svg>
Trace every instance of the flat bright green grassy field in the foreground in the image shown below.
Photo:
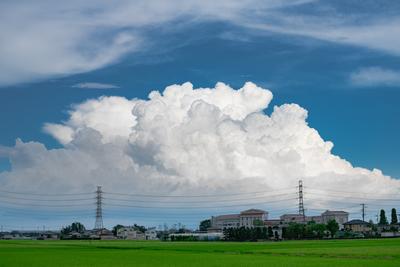
<svg viewBox="0 0 400 267"><path fill-rule="evenodd" d="M0 241L0 266L400 266L400 239L276 243Z"/></svg>

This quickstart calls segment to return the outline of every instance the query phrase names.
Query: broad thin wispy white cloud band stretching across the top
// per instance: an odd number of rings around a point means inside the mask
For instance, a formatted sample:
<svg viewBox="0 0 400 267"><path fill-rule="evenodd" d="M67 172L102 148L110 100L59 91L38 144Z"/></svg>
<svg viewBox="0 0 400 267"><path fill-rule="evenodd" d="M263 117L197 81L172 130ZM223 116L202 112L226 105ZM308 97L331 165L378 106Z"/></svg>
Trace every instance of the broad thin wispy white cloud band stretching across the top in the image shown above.
<svg viewBox="0 0 400 267"><path fill-rule="evenodd" d="M367 12L358 11L357 5L342 10L312 0L2 1L0 86L96 70L129 53L145 51L152 41L148 29L168 29L174 34L201 22L219 21L260 33L316 38L400 55L396 2L383 5L390 8L382 10L363 2ZM177 21L180 27L174 25Z"/></svg>

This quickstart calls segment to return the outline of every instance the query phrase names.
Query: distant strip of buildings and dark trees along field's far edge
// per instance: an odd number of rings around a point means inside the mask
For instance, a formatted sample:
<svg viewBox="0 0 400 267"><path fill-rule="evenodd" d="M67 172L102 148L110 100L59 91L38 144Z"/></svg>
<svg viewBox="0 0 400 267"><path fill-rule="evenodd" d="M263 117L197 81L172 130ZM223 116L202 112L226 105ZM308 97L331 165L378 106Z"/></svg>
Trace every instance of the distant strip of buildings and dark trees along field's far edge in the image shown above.
<svg viewBox="0 0 400 267"><path fill-rule="evenodd" d="M390 221L381 210L378 223L360 219L349 220L349 213L341 210L326 210L318 216L283 214L270 219L268 212L247 209L238 214L212 216L199 223L196 230L184 226L157 229L140 225L116 225L108 230L104 227L87 230L79 222L64 227L61 231L2 231L1 239L35 240L163 240L163 241L281 241L291 239L329 238L389 238L400 237L400 223L395 208Z"/></svg>

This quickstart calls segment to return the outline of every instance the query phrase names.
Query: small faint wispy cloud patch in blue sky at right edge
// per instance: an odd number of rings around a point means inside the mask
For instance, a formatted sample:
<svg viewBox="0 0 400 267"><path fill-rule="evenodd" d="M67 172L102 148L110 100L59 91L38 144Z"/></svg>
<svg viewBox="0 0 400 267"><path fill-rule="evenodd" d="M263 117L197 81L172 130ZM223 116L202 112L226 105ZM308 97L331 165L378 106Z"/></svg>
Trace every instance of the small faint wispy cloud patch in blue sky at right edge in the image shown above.
<svg viewBox="0 0 400 267"><path fill-rule="evenodd" d="M357 87L400 86L400 71L381 67L361 68L351 73L350 83Z"/></svg>

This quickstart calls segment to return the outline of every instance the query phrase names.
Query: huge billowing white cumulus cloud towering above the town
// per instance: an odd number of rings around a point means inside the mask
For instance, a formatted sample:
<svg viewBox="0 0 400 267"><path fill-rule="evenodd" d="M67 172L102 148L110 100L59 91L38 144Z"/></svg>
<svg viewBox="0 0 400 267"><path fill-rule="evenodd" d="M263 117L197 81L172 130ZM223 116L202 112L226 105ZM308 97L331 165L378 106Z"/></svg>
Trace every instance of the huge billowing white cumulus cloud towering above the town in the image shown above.
<svg viewBox="0 0 400 267"><path fill-rule="evenodd" d="M265 114L271 100L251 82L239 90L185 83L148 100L88 100L73 106L66 122L44 126L63 148L17 140L0 149L12 163L0 186L78 192L100 184L114 192L190 195L274 191L303 179L322 190L309 199L332 205L323 190L398 192L400 181L333 155L333 143L308 126L299 105Z"/></svg>

